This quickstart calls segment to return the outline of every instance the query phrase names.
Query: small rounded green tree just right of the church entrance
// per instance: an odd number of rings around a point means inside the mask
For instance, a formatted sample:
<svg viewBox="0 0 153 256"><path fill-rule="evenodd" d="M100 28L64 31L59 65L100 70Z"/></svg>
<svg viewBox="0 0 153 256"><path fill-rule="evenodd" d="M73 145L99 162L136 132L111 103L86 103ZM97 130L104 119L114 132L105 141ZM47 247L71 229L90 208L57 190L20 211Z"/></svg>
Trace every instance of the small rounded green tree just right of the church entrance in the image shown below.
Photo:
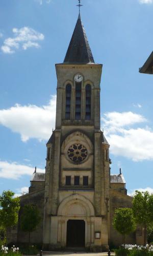
<svg viewBox="0 0 153 256"><path fill-rule="evenodd" d="M136 230L132 209L117 208L114 214L113 226L122 235L122 243L125 245L125 235Z"/></svg>

